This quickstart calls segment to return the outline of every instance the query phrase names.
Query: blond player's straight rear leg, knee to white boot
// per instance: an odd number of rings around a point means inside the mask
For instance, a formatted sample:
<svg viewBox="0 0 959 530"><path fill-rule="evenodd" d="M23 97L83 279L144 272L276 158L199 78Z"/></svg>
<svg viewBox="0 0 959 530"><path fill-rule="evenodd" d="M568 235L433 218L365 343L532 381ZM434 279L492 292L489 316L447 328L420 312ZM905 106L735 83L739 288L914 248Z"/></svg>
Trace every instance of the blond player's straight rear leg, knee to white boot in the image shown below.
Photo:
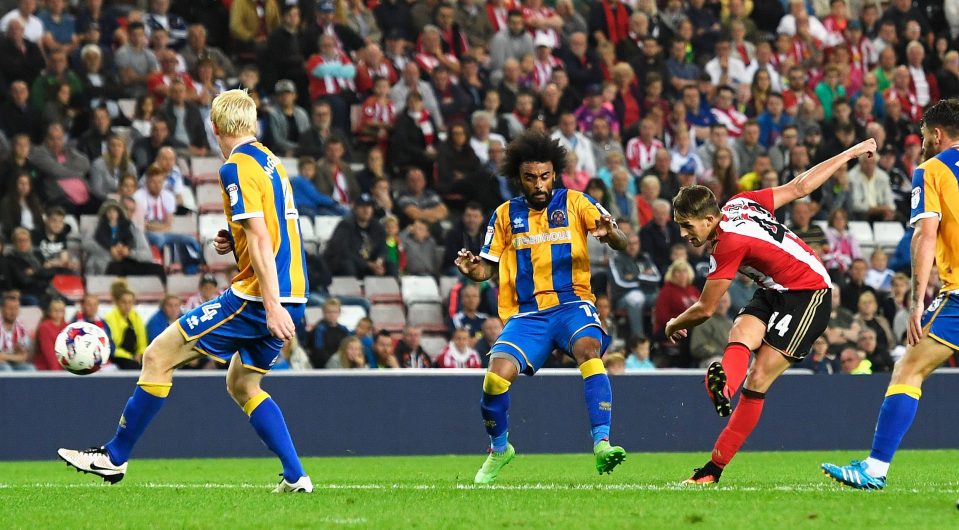
<svg viewBox="0 0 959 530"><path fill-rule="evenodd" d="M274 493L311 493L313 482L303 471L300 458L293 446L293 438L283 419L280 407L270 394L260 387L264 373L243 365L240 355L230 360L226 375L226 388L243 412L250 417L250 425L263 443L276 453L283 464L283 480Z"/></svg>

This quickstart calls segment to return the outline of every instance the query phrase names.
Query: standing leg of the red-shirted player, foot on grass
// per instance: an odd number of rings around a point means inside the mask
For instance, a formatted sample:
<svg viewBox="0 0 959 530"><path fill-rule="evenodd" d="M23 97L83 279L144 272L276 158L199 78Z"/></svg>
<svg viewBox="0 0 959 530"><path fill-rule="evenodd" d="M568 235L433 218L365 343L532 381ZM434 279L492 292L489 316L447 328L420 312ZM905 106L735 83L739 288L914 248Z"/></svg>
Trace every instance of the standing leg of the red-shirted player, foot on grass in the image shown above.
<svg viewBox="0 0 959 530"><path fill-rule="evenodd" d="M753 363L746 377L736 410L730 416L726 428L716 439L712 457L706 465L693 472L693 476L685 481L687 484L719 482L723 469L736 456L756 428L756 424L759 423L769 387L789 366L790 361L768 344L764 344L759 349L756 362Z"/></svg>

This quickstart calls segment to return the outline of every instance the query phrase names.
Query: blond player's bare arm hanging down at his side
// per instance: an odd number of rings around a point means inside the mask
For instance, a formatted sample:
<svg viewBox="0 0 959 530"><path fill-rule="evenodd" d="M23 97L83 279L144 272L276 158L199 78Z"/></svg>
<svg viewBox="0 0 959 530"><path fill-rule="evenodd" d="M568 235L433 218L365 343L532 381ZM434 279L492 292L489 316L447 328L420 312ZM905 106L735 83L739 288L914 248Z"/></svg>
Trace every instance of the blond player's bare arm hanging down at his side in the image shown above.
<svg viewBox="0 0 959 530"><path fill-rule="evenodd" d="M266 327L274 337L290 340L296 334L296 326L290 313L280 304L280 280L276 275L273 240L266 228L266 221L262 217L244 219L243 232L250 252L250 264L260 284L260 296L263 297L263 309L266 310Z"/></svg>

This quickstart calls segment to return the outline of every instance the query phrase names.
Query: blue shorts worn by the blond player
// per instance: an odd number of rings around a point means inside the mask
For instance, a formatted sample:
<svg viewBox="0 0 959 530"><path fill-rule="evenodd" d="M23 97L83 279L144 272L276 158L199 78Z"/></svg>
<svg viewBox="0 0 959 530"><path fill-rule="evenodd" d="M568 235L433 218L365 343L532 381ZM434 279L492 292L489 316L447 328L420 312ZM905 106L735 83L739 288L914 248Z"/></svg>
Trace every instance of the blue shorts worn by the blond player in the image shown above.
<svg viewBox="0 0 959 530"><path fill-rule="evenodd" d="M294 323L303 320L306 304L283 307ZM283 341L266 327L263 304L244 300L232 289L187 312L177 320L177 327L187 342L196 341L193 349L199 353L221 364L239 353L244 367L264 374L283 348Z"/></svg>

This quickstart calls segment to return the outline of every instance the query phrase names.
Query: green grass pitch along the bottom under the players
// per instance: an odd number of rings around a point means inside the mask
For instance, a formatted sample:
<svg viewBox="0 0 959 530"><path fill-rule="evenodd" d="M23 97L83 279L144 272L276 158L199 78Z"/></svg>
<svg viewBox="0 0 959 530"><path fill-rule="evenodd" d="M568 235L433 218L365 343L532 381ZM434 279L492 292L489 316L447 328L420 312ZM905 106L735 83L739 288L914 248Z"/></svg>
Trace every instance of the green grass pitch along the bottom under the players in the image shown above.
<svg viewBox="0 0 959 530"><path fill-rule="evenodd" d="M313 495L271 495L273 459L136 460L115 486L62 462L0 463L0 528L957 528L959 451L903 451L885 491L844 488L822 461L862 452L741 453L712 487L706 454L524 455L473 486L483 455L308 458Z"/></svg>

